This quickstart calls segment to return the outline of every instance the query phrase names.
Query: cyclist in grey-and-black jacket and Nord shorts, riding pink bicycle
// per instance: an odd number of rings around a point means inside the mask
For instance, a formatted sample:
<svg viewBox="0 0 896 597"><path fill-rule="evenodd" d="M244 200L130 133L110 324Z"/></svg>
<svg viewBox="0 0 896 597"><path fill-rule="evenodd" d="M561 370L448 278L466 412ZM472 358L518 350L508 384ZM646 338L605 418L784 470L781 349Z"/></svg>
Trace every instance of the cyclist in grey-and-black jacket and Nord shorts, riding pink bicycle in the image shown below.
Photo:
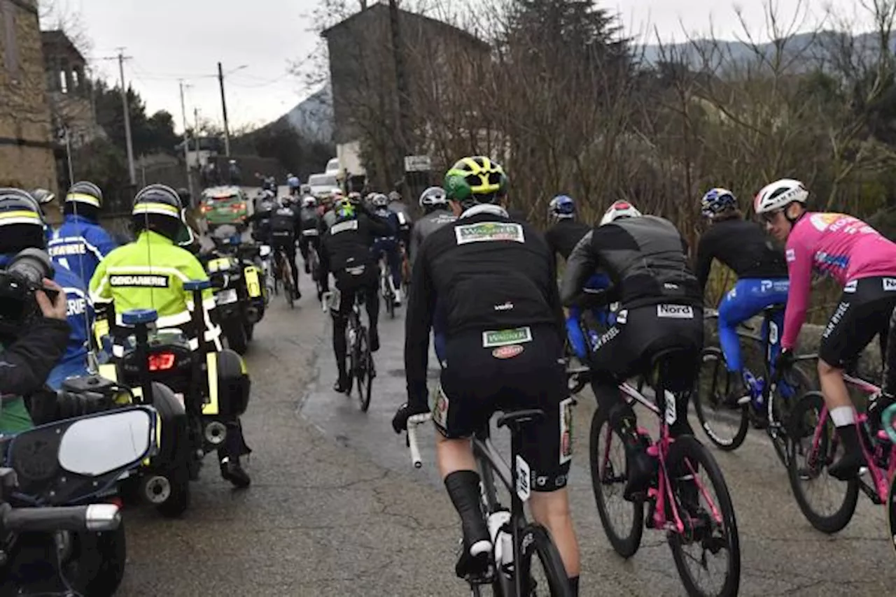
<svg viewBox="0 0 896 597"><path fill-rule="evenodd" d="M637 428L632 406L620 397L620 380L643 374L650 358L667 349L682 356L670 391L694 388L703 347L702 295L687 264L685 239L666 219L642 216L617 201L601 225L582 238L566 261L561 298L564 305L594 308L618 301L615 323L591 346L591 387L610 425L625 444L628 466L625 499L643 498L656 470L647 454L650 439ZM598 293L583 289L595 269L604 269L612 286ZM687 395L676 400L674 435L693 434L687 422Z"/></svg>

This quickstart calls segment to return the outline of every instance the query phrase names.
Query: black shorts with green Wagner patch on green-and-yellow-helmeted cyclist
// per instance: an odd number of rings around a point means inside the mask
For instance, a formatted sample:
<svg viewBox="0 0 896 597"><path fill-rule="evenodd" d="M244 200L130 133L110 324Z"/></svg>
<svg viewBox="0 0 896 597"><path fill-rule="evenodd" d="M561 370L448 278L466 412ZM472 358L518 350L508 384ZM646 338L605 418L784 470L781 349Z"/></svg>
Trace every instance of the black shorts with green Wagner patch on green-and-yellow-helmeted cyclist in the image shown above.
<svg viewBox="0 0 896 597"><path fill-rule="evenodd" d="M553 326L449 337L433 407L436 428L446 438L469 438L495 411L540 408L545 418L523 428L520 456L530 467L533 490L565 487L573 458L573 399L562 355Z"/></svg>

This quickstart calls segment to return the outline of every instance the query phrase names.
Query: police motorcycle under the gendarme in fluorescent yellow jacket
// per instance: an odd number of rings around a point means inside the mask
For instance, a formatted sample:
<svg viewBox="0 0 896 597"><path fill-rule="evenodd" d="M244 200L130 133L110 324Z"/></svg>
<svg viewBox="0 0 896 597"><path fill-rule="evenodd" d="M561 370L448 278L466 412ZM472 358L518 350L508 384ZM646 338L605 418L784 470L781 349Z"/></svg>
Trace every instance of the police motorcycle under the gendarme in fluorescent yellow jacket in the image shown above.
<svg viewBox="0 0 896 597"><path fill-rule="evenodd" d="M184 283L202 304L208 280ZM199 348L177 329L157 329L153 310L128 311L125 326L133 328L124 356L100 365L100 374L134 388L139 404L162 414L161 446L166 448L144 472L143 495L162 516L176 517L190 504L190 482L199 479L206 454L224 446L228 423L246 412L250 380L246 363L232 350L217 352L204 333ZM202 309L194 310L194 327L202 330ZM173 400L168 397L173 397ZM169 422L170 421L170 422Z"/></svg>

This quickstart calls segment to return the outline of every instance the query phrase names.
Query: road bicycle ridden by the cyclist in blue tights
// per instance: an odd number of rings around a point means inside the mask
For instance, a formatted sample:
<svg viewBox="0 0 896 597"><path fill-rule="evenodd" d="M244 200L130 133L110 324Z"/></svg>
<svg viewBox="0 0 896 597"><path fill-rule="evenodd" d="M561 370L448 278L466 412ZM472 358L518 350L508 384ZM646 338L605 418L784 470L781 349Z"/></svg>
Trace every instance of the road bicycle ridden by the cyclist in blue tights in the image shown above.
<svg viewBox="0 0 896 597"><path fill-rule="evenodd" d="M762 310L762 323L757 331L749 323L737 328L741 345L757 349L762 358L762 371L754 373L744 367L731 374L725 354L718 346L707 346L701 354L701 370L694 409L706 436L719 449L735 450L744 443L751 419L764 427L782 465L788 460L788 419L797 397L814 389L813 381L799 367L775 371L773 358L780 345L783 305ZM707 309L704 320L718 320L719 311ZM745 342L744 342L745 341ZM797 362L813 360L813 354L796 357ZM744 394L744 382L749 393ZM741 396L743 395L743 396ZM733 431L732 431L733 430Z"/></svg>

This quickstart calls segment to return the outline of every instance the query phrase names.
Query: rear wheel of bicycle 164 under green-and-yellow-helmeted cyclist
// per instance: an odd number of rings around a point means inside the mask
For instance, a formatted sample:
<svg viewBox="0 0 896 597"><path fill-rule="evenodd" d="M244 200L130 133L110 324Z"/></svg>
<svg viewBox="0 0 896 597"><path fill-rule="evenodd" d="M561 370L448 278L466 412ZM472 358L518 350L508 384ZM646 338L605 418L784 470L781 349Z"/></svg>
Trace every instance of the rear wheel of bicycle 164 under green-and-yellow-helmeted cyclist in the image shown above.
<svg viewBox="0 0 896 597"><path fill-rule="evenodd" d="M547 529L542 525L526 525L520 534L520 544L522 595L572 597L563 559Z"/></svg>

